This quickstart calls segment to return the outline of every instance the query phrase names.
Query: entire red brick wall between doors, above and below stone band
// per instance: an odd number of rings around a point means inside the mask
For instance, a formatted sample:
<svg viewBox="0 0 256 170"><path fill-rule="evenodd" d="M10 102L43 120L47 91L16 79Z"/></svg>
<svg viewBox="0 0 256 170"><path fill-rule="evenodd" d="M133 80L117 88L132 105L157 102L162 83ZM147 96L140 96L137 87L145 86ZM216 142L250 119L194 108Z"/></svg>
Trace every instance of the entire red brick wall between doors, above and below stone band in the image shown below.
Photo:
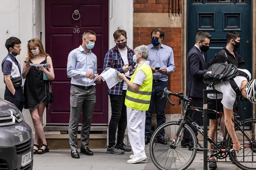
<svg viewBox="0 0 256 170"><path fill-rule="evenodd" d="M170 2L170 4L169 4ZM134 13L155 13L154 16L161 16L159 13L181 14L181 0L134 0ZM159 14L159 15L158 15ZM145 14L147 15L147 14ZM174 17L177 15L173 15ZM180 16L180 15L179 15ZM179 17L178 16L178 17ZM157 18L157 17L156 17ZM172 48L174 52L175 71L169 74L168 84L169 90L175 93L182 91L181 84L181 28L161 27L161 22L155 22L156 18L150 18L154 27L159 27L165 32L163 44ZM139 18L140 21L142 18ZM151 22L151 20L147 22ZM134 20L136 22L136 20ZM177 21L178 22L178 21ZM133 27L133 47L151 44L151 31L153 27ZM171 97L175 106L171 106L168 102L166 105L166 114L181 113L180 106L177 106L179 100Z"/></svg>

